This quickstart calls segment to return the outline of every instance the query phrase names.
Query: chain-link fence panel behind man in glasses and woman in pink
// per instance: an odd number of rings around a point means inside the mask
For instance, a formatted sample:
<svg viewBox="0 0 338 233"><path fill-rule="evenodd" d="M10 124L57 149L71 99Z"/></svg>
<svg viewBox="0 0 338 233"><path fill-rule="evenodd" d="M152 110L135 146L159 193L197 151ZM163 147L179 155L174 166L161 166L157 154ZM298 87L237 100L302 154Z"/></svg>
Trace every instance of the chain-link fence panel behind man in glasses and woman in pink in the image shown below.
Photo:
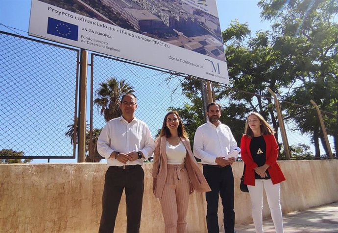
<svg viewBox="0 0 338 233"><path fill-rule="evenodd" d="M122 90L130 88L137 96L138 107L135 116L146 122L154 138L161 129L163 118L170 107L183 108L186 103L190 103L189 99L182 95L180 84L185 78L182 74L98 54L92 54L92 69L91 138L93 140L90 149L91 158L87 161L102 159L96 151L96 140L106 121L112 118L105 119L105 114L100 114L102 108L100 99L112 98L112 95L120 99L124 93ZM121 88L121 81L123 88ZM105 90L104 94L102 90L105 87L102 84L108 84L108 90ZM114 116L121 116L121 113Z"/></svg>

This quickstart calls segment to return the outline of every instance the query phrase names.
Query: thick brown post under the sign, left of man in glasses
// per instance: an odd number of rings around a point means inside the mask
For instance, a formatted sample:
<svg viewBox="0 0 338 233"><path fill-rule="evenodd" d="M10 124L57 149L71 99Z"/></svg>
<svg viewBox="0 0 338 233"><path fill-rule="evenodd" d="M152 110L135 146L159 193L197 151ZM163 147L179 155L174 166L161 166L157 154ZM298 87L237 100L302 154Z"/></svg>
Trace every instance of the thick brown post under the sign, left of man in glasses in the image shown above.
<svg viewBox="0 0 338 233"><path fill-rule="evenodd" d="M86 155L87 63L88 52L85 49L81 49L78 163L85 162Z"/></svg>

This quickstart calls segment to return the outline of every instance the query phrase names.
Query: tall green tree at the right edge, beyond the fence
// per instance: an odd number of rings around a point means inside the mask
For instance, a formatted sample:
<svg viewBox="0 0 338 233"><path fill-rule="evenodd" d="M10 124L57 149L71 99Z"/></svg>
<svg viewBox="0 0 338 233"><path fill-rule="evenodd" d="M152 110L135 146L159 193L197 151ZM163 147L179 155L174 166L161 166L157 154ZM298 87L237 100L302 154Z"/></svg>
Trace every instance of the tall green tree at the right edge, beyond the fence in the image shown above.
<svg viewBox="0 0 338 233"><path fill-rule="evenodd" d="M261 16L271 21L274 41L290 54L297 86L286 100L312 107L310 99L321 110L333 114L326 117L328 133L334 138L336 155L338 148L338 2L336 0L261 0ZM323 91L325 90L325 91ZM315 156L319 157L319 142L323 143L319 122L306 111L289 109L304 133L312 135ZM306 122L306 123L304 123ZM312 126L310 125L311 123Z"/></svg>

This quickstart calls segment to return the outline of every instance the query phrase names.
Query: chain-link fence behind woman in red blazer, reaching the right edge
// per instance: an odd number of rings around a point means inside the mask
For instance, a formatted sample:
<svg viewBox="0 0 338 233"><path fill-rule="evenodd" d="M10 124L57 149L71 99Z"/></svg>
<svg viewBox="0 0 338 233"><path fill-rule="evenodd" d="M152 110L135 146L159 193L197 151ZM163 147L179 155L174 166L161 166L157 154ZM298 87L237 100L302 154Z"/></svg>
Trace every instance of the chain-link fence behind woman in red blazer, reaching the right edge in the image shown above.
<svg viewBox="0 0 338 233"><path fill-rule="evenodd" d="M264 116L268 123L277 131L276 138L281 149L279 159L285 160L285 147L283 146L281 128L273 97L248 93L241 90L230 90L230 88L226 86L224 86L223 89L228 89L227 92L241 95L241 97L245 99L242 101L231 101L231 98L224 97L220 100L220 103L224 106L223 113L225 111L225 113L228 114L224 120L232 128L237 141L240 142L241 135L244 133L245 119L249 112L258 112ZM318 113L314 107L311 106L310 101L309 105L310 106L302 106L281 101L291 159L329 158L330 153L324 140ZM337 115L326 112L322 113L326 126L329 126L334 119L336 119L335 122L337 122ZM333 148L337 148L337 146L334 145L332 136L334 134L334 132L329 132L329 135L331 135L329 136L329 143L331 151L336 154L337 152L332 150Z"/></svg>

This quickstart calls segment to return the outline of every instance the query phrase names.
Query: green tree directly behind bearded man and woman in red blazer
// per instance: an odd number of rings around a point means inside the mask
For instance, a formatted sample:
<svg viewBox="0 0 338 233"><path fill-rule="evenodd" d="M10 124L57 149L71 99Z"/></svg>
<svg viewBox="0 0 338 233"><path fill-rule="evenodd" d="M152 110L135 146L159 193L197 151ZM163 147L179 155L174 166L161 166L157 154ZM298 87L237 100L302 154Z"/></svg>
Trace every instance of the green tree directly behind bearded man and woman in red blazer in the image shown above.
<svg viewBox="0 0 338 233"><path fill-rule="evenodd" d="M250 33L248 25L238 21L233 21L222 32L230 88L218 85L215 95L226 103L222 112L227 114L227 124L234 128L237 139L241 137L245 118L251 111L264 116L276 131L279 129L267 88L282 93L281 89L293 82L289 57L283 56L280 47L275 46L272 35L268 31L260 31L252 38ZM275 136L278 140L278 135Z"/></svg>

